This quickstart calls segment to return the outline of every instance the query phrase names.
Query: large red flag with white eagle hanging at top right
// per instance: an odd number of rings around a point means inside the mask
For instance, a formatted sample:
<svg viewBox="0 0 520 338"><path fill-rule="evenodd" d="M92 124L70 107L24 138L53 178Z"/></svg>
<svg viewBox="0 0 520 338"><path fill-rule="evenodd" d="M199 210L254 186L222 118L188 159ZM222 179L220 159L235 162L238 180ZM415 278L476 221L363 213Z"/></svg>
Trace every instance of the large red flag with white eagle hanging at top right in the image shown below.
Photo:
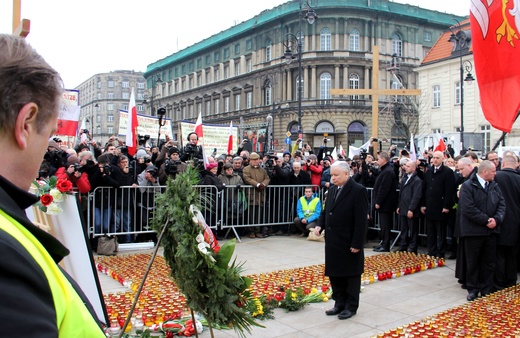
<svg viewBox="0 0 520 338"><path fill-rule="evenodd" d="M510 132L520 109L520 14L517 1L471 1L471 35L486 120Z"/></svg>

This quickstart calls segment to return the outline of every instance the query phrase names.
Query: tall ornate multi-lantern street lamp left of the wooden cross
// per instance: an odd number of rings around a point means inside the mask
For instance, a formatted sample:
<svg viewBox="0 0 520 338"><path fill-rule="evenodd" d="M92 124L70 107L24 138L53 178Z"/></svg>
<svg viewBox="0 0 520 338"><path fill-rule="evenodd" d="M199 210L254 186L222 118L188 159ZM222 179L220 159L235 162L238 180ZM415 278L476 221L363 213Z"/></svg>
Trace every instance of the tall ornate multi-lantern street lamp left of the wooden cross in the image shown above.
<svg viewBox="0 0 520 338"><path fill-rule="evenodd" d="M285 63L290 64L293 59L298 58L298 82L296 83L296 87L298 89L297 99L298 99L298 138L302 139L303 144L303 128L302 128L302 52L303 52L303 32L302 32L302 20L303 18L307 19L307 22L312 25L314 21L318 18L316 12L314 11L314 7L318 5L318 0L299 0L300 9L299 9L299 20L298 20L298 34L297 37L292 33L285 34L283 40L283 45L285 47L285 53L282 59ZM306 6L306 13L303 16L303 5ZM293 53L294 45L296 45L296 54L295 57Z"/></svg>

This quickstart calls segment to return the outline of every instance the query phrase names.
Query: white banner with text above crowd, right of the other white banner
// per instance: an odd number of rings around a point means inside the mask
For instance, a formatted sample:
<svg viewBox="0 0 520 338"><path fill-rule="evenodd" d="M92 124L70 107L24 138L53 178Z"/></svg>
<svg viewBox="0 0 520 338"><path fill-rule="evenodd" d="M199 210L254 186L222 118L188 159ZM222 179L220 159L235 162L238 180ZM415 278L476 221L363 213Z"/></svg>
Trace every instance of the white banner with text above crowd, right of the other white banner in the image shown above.
<svg viewBox="0 0 520 338"><path fill-rule="evenodd" d="M178 139L182 142L182 146L186 145L188 134L195 130L195 123L182 121L179 123L180 131ZM206 154L211 154L214 149L217 149L217 155L227 153L227 143L229 139L229 124L227 125L211 125L203 124L204 138L200 138L199 145L202 145ZM238 127L233 127L233 150L235 153L238 149Z"/></svg>

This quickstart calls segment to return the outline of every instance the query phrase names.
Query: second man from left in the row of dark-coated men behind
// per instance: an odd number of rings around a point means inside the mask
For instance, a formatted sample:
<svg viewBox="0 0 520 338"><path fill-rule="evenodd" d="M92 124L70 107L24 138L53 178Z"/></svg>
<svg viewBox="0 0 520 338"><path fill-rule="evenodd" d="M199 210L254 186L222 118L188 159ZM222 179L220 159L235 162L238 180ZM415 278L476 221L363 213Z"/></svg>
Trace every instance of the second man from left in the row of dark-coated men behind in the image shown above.
<svg viewBox="0 0 520 338"><path fill-rule="evenodd" d="M422 197L422 180L417 176L417 163L408 161L405 165L406 175L403 176L399 190L397 214L400 219L401 234L399 235L398 251L406 251L408 231L410 232L409 251L417 253L417 235L419 233L419 216Z"/></svg>

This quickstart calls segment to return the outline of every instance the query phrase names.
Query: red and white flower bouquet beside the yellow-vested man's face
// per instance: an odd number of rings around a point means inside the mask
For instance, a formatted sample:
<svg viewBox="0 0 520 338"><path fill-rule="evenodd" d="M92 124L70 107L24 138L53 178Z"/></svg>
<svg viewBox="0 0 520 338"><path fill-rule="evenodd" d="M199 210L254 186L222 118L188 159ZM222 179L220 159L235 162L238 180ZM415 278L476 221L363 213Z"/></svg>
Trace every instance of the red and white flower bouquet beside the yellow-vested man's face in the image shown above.
<svg viewBox="0 0 520 338"><path fill-rule="evenodd" d="M33 182L32 189L40 200L36 206L49 215L59 215L63 212L60 203L64 201L65 195L72 191L72 182L67 179L58 179L51 176Z"/></svg>

